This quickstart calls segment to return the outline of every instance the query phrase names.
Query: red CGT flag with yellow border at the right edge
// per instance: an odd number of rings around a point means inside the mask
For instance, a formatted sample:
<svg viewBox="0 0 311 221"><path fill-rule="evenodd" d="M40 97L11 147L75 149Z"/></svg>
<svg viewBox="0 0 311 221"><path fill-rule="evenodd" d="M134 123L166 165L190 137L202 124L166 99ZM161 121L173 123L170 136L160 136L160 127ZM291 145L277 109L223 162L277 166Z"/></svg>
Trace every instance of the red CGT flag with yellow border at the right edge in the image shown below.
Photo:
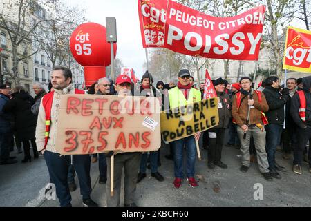
<svg viewBox="0 0 311 221"><path fill-rule="evenodd" d="M311 31L289 26L283 69L311 73Z"/></svg>

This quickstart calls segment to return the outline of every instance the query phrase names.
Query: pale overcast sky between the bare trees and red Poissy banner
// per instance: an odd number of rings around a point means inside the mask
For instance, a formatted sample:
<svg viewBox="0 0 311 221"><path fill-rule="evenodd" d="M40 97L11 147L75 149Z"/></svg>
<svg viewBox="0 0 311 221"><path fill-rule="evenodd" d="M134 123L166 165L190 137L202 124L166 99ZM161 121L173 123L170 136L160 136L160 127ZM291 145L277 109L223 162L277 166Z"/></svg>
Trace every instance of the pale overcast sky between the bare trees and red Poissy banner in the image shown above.
<svg viewBox="0 0 311 221"><path fill-rule="evenodd" d="M124 66L133 68L140 79L146 61L142 48L137 0L66 0L70 6L86 9L86 19L106 26L106 17L117 20L117 57ZM121 70L119 70L121 71ZM117 73L119 74L119 73Z"/></svg>

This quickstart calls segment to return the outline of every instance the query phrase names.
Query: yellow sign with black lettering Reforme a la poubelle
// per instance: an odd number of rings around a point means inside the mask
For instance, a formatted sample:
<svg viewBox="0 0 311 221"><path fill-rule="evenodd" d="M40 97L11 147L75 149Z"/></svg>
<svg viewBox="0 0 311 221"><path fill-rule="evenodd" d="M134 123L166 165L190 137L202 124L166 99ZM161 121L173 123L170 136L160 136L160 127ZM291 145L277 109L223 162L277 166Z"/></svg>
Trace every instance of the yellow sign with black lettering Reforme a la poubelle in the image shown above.
<svg viewBox="0 0 311 221"><path fill-rule="evenodd" d="M218 125L217 98L205 99L161 113L164 142L172 142Z"/></svg>

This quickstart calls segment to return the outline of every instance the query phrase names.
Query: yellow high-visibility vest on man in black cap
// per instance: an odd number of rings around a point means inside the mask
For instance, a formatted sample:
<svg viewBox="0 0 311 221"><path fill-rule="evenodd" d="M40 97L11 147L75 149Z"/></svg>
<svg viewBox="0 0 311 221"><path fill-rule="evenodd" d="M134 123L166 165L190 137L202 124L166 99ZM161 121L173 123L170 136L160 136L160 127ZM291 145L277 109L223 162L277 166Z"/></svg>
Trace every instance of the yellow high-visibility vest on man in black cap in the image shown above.
<svg viewBox="0 0 311 221"><path fill-rule="evenodd" d="M180 90L178 87L169 90L169 106L171 109L200 101L201 92L200 90L197 90L195 88L191 88L191 90L189 91L188 100L186 100L183 91Z"/></svg>

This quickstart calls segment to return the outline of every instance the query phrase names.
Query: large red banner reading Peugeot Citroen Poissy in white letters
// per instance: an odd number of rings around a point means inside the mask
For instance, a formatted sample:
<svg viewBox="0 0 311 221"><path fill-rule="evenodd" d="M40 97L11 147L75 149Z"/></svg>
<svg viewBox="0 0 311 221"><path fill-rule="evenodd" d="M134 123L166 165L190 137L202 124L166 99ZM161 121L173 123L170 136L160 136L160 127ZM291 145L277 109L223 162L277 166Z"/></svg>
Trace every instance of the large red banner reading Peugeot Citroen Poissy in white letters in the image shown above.
<svg viewBox="0 0 311 221"><path fill-rule="evenodd" d="M265 6L235 17L212 17L170 0L138 0L142 45L184 55L258 60Z"/></svg>

